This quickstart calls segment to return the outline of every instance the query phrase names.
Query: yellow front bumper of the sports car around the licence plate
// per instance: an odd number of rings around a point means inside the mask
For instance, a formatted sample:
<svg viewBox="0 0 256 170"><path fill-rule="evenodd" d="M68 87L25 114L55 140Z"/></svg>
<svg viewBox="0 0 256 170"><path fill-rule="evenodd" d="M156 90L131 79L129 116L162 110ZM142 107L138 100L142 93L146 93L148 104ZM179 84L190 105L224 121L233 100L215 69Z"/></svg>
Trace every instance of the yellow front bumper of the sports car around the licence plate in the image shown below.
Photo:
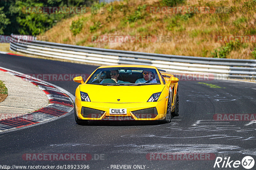
<svg viewBox="0 0 256 170"><path fill-rule="evenodd" d="M77 117L83 120L161 120L164 119L166 115L167 100L168 98L164 98L158 102L100 103L81 102L78 98L76 98L75 107ZM86 116L84 116L85 110L82 107L86 108L86 111L88 110L89 112L92 112L92 114L86 114ZM125 115L110 114L110 108L126 109L127 113ZM93 114L94 110L95 114ZM155 112L153 110L155 110Z"/></svg>

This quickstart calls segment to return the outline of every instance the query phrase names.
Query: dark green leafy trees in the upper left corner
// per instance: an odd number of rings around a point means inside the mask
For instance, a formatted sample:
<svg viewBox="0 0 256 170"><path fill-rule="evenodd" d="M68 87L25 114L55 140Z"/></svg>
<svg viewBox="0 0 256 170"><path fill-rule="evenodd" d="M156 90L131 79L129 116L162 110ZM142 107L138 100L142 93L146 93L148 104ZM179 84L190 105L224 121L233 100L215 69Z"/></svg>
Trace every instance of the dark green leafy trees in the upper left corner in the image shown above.
<svg viewBox="0 0 256 170"><path fill-rule="evenodd" d="M75 14L25 13L26 7L82 7L97 0L0 0L0 34L38 35Z"/></svg>

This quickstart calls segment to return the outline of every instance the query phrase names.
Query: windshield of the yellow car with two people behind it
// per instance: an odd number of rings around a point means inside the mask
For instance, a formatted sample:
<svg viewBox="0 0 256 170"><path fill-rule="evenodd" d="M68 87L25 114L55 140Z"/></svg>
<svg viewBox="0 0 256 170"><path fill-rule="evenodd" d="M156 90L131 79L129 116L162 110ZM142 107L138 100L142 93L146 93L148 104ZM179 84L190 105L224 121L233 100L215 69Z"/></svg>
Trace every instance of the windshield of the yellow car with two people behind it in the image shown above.
<svg viewBox="0 0 256 170"><path fill-rule="evenodd" d="M97 69L86 84L135 86L161 83L153 68L108 67Z"/></svg>

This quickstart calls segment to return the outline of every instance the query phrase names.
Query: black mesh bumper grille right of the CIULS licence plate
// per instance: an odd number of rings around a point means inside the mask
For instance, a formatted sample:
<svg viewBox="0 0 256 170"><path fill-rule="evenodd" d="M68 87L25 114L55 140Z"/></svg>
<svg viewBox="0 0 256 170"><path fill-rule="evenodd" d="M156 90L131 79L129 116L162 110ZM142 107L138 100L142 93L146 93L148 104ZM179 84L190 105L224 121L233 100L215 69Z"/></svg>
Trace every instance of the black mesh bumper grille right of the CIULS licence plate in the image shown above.
<svg viewBox="0 0 256 170"><path fill-rule="evenodd" d="M132 114L137 118L155 118L158 113L156 110L156 107L147 108L147 109L141 109L141 110L135 110L132 111Z"/></svg>

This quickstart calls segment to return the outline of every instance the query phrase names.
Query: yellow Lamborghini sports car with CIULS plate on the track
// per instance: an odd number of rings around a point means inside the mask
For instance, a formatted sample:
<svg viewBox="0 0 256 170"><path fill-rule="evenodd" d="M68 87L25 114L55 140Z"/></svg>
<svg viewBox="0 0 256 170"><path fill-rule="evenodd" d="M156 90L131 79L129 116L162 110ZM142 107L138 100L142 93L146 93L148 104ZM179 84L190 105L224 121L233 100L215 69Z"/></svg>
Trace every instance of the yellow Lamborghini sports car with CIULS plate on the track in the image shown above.
<svg viewBox="0 0 256 170"><path fill-rule="evenodd" d="M179 79L154 66L115 65L97 68L75 82L75 120L162 120L179 116Z"/></svg>

